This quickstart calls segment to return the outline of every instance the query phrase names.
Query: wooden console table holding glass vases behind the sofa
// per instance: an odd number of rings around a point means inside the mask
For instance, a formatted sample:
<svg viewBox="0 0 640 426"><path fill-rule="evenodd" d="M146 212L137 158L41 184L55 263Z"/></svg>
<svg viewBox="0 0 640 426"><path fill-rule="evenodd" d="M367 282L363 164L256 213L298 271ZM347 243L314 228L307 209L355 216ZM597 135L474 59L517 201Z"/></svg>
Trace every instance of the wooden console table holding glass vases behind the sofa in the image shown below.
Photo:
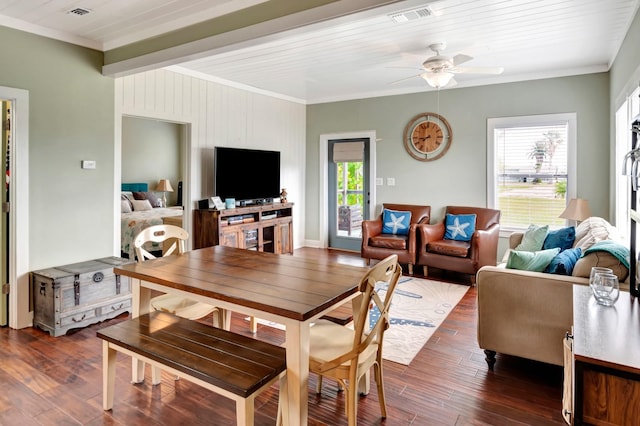
<svg viewBox="0 0 640 426"><path fill-rule="evenodd" d="M640 302L626 291L600 306L573 286L573 424L640 422Z"/></svg>

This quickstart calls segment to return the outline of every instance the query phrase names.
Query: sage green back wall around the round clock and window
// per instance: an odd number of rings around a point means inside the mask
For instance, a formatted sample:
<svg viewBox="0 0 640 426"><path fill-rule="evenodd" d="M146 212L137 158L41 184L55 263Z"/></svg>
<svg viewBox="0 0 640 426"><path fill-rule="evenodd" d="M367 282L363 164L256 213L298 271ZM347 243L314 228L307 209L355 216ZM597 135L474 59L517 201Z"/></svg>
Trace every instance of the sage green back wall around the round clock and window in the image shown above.
<svg viewBox="0 0 640 426"><path fill-rule="evenodd" d="M425 88L426 89L426 88ZM444 157L419 162L405 151L402 133L421 112L439 112L453 129ZM607 73L483 87L425 91L307 108L306 238L318 240L319 137L324 133L375 130L377 177L396 185L378 186L377 204L430 205L432 222L447 205L485 206L487 119L576 112L578 117L577 194L593 214L609 217L609 78Z"/></svg>

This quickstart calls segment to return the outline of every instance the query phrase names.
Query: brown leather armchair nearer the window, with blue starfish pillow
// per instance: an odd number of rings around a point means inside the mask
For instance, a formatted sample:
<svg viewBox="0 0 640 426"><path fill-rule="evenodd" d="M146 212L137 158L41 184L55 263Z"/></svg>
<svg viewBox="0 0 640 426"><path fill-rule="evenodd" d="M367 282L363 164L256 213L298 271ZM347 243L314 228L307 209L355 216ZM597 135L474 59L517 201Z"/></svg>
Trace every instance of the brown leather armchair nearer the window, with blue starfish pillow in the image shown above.
<svg viewBox="0 0 640 426"><path fill-rule="evenodd" d="M418 227L417 264L424 276L429 266L472 275L475 283L478 269L496 265L500 236L500 210L482 207L447 206L446 214L476 214L476 229L471 241L445 240L445 222Z"/></svg>

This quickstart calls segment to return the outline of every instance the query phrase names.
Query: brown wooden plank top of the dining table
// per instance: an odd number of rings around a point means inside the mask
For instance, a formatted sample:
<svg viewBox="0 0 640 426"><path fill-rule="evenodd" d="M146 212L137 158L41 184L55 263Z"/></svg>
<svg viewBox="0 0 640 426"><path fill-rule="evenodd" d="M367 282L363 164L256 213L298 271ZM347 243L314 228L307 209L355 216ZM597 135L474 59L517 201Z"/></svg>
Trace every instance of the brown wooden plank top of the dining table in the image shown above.
<svg viewBox="0 0 640 426"><path fill-rule="evenodd" d="M226 246L114 268L116 274L298 321L357 293L367 270Z"/></svg>

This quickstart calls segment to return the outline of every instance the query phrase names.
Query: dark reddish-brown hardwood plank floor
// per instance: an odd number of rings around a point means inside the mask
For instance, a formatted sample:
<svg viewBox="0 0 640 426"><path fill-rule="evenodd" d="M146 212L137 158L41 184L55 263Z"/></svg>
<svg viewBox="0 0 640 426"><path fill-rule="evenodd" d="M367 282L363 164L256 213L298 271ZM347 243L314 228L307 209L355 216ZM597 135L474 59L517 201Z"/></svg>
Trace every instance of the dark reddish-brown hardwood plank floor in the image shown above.
<svg viewBox="0 0 640 426"><path fill-rule="evenodd" d="M300 249L296 256L364 265L357 254ZM449 281L459 277L440 276ZM233 403L163 373L159 386L132 385L130 358L118 354L113 411L102 410L101 340L96 330L126 315L53 338L38 329L0 329L1 425L233 425ZM248 333L233 316L232 330ZM283 332L259 326L256 335L280 344ZM359 401L361 425L562 425L562 369L501 356L487 370L476 343L476 290L471 287L433 337L404 366L386 362L388 417L380 418L375 386ZM309 424L346 425L344 395L325 381L309 384ZM256 401L256 425L275 424L277 387Z"/></svg>

